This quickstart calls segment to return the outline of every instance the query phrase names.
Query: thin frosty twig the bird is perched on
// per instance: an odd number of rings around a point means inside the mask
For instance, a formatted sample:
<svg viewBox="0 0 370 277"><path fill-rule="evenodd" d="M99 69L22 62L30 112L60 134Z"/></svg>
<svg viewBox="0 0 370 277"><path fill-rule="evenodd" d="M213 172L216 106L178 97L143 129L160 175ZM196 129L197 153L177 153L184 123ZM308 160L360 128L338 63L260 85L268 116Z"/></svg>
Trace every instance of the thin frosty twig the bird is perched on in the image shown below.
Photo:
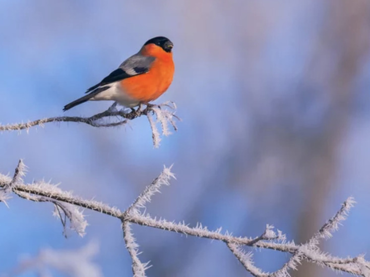
<svg viewBox="0 0 370 277"><path fill-rule="evenodd" d="M177 131L175 119L180 120L180 118L175 115L177 107L174 102L165 102L160 105L147 104L145 109L142 109L142 105L140 105L137 110L132 110L130 112L127 112L124 109L119 111L116 109L116 106L117 103L114 103L107 111L97 113L90 117L57 116L37 119L27 123L14 123L6 125L0 124L0 131L27 130L28 132L31 127L38 125L44 127L45 123L49 122L76 122L85 123L93 127L115 127L125 125L129 120L146 115L152 129L152 138L155 148L159 147L159 143L161 141L157 123L161 124L162 135L164 136L171 134L169 131L169 125L171 125L175 131ZM155 115L156 120L153 118L153 114Z"/></svg>

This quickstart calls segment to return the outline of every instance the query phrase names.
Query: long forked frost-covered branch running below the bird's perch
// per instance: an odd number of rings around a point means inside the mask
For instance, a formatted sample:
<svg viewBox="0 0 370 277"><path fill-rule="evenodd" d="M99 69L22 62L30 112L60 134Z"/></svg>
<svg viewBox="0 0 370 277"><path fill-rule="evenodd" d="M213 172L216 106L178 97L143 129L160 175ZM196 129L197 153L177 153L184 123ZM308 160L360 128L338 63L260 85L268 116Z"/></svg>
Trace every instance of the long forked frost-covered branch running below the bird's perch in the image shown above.
<svg viewBox="0 0 370 277"><path fill-rule="evenodd" d="M149 268L149 263L142 263L138 258L138 244L130 228L130 224L132 223L222 241L226 243L245 269L255 277L289 277L289 271L295 270L297 264L301 263L302 260L336 271L370 277L370 262L366 261L363 255L339 258L322 252L318 247L319 239L330 238L332 232L338 228L340 222L346 219L350 208L355 203L353 198L348 198L343 203L341 209L313 234L311 239L306 243L296 244L294 242L287 242L286 236L280 230L275 231L271 225L266 225L266 229L260 236L251 238L234 236L227 231L221 232L221 228L212 231L201 223L191 227L184 222L171 222L161 218L153 218L149 214L146 214L145 206L151 201L153 195L159 192L163 185L169 185L171 178L175 177L171 172L171 167L164 167L162 173L144 189L133 204L125 211L95 200L84 200L72 195L70 192L62 191L57 185L45 181L26 184L21 178L24 168L23 163L20 161L13 177L0 174L0 191L6 193L7 198L13 192L28 200L53 203L56 209L55 215L62 221L64 233L67 222L69 222L69 229L76 231L81 236L84 234L87 222L78 208L97 211L120 219L122 222L123 239L132 259L132 271L135 277L144 277L145 270ZM245 252L243 247L273 249L290 253L292 256L280 270L273 273L265 273L262 269L254 266L251 253Z"/></svg>

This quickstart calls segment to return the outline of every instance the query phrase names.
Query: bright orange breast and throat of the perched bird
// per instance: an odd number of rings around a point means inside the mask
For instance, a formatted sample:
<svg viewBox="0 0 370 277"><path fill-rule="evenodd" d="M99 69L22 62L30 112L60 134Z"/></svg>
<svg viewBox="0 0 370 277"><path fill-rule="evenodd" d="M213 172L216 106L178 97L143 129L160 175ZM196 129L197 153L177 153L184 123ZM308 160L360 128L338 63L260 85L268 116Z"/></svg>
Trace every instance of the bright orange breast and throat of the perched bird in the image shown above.
<svg viewBox="0 0 370 277"><path fill-rule="evenodd" d="M160 97L171 85L175 66L172 55L156 57L148 73L121 81L122 90L140 102L150 102Z"/></svg>

